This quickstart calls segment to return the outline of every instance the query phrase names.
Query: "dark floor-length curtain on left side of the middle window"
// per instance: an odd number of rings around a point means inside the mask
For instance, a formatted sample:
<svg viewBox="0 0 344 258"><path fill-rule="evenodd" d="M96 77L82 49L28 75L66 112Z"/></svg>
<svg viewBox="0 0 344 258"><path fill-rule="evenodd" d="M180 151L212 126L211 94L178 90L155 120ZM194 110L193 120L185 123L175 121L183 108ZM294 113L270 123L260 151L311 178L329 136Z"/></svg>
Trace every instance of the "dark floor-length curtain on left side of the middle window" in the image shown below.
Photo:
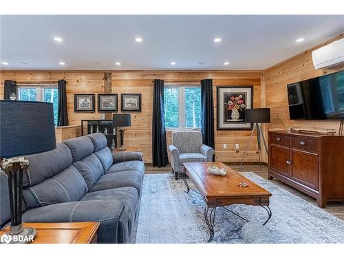
<svg viewBox="0 0 344 258"><path fill-rule="evenodd" d="M166 166L169 159L164 118L164 80L154 80L152 137L153 166Z"/></svg>

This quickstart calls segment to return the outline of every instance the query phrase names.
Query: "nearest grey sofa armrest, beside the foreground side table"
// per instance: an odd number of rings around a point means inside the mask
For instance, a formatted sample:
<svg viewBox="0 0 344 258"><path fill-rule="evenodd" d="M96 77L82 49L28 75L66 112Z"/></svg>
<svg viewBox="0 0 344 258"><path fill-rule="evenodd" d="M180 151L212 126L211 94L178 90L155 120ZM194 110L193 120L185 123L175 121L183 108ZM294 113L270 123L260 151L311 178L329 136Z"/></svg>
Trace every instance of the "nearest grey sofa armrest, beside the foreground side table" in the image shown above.
<svg viewBox="0 0 344 258"><path fill-rule="evenodd" d="M64 202L25 211L23 222L100 222L98 243L123 243L128 241L124 208L116 199Z"/></svg>

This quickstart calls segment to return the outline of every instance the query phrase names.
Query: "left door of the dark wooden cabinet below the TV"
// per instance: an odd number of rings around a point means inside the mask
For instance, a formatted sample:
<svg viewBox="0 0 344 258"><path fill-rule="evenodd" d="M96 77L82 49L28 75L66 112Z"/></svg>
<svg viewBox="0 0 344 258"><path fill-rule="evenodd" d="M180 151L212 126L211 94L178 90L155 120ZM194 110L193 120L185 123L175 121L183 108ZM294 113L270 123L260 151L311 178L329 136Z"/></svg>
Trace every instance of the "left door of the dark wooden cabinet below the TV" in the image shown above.
<svg viewBox="0 0 344 258"><path fill-rule="evenodd" d="M270 169L290 178L290 149L270 144Z"/></svg>

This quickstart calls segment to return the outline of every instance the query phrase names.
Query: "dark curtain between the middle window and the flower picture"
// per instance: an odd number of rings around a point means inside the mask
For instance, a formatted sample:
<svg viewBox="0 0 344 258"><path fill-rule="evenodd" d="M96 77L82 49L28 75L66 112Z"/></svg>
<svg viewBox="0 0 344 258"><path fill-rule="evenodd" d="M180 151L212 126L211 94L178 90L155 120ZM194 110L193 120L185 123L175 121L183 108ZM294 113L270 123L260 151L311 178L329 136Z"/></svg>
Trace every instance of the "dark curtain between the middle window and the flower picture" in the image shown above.
<svg viewBox="0 0 344 258"><path fill-rule="evenodd" d="M215 149L213 80L201 80L201 127L203 144ZM215 156L213 156L213 161Z"/></svg>

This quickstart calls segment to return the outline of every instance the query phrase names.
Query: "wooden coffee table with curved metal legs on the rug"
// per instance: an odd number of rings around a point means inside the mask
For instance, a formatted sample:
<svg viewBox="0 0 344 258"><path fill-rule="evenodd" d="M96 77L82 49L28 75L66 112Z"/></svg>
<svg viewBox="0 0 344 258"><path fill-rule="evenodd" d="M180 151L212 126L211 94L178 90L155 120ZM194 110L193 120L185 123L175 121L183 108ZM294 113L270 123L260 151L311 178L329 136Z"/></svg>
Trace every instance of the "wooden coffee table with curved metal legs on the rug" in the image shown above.
<svg viewBox="0 0 344 258"><path fill-rule="evenodd" d="M213 175L208 173L206 169L208 166L218 166L220 169L226 169L225 176ZM226 206L230 204L248 204L261 206L268 212L268 219L264 222L265 225L272 216L269 208L269 198L272 195L261 186L245 178L244 175L237 173L229 166L220 162L202 162L202 163L184 163L186 175L189 176L193 184L195 184L200 195L202 195L206 207L204 208L204 219L209 228L209 239L211 242L214 238L214 222L217 207L222 207L241 217L239 214L230 211ZM189 193L189 185L186 181L185 174L183 177L186 185L187 193ZM240 187L239 184L246 183L246 187Z"/></svg>

